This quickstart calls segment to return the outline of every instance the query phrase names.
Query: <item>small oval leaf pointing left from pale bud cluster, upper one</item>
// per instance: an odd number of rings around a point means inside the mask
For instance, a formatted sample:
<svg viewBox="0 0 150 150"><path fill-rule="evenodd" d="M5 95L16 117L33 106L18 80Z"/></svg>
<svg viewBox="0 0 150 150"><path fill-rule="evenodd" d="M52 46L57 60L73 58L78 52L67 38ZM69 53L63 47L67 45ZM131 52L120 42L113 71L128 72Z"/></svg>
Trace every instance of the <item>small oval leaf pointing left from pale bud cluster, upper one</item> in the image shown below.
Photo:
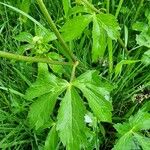
<svg viewBox="0 0 150 150"><path fill-rule="evenodd" d="M15 36L15 39L20 42L32 43L33 36L28 32L21 32L19 35Z"/></svg>

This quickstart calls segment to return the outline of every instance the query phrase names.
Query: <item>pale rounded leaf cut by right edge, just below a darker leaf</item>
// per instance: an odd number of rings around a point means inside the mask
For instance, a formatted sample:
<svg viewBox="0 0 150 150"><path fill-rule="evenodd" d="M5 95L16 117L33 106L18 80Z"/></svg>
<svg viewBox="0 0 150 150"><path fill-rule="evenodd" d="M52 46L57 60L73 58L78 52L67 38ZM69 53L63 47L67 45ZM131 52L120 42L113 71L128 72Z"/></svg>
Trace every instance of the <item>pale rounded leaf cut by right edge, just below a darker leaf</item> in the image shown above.
<svg viewBox="0 0 150 150"><path fill-rule="evenodd" d="M150 48L150 34L148 32L142 32L136 36L137 44Z"/></svg>

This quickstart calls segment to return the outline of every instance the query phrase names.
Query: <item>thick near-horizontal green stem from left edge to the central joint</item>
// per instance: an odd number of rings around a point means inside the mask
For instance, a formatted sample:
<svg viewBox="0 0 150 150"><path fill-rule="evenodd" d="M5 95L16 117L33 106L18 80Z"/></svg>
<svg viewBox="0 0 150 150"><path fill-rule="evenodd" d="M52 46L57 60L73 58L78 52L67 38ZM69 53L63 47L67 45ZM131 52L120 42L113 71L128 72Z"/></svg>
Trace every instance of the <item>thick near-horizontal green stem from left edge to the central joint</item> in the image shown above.
<svg viewBox="0 0 150 150"><path fill-rule="evenodd" d="M7 58L7 59L14 59L17 61L41 62L41 63L49 63L53 65L69 65L69 66L73 65L72 63L69 63L69 62L52 61L48 58L27 57L27 56L12 54L12 53L3 52L3 51L0 51L0 57Z"/></svg>

